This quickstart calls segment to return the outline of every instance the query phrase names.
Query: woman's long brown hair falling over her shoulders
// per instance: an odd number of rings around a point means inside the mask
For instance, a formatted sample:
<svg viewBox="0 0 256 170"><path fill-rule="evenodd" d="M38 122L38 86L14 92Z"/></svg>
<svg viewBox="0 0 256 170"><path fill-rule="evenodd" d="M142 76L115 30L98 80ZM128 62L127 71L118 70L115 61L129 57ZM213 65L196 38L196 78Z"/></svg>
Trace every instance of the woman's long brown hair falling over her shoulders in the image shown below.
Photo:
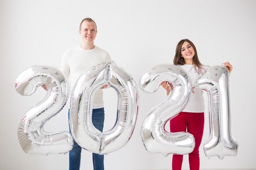
<svg viewBox="0 0 256 170"><path fill-rule="evenodd" d="M184 61L184 58L182 57L181 55L181 47L182 47L182 44L187 41L194 49L195 51L195 55L193 57L193 65L195 66L197 72L201 72L200 69L203 69L202 68L202 64L200 63L199 59L198 59L198 55L197 55L197 48L196 46L193 44L192 41L190 41L189 39L182 39L178 42L177 44L177 47L176 47L176 52L175 52L175 56L174 56L174 59L173 59L173 63L175 65L184 65L185 64L185 61ZM183 58L183 59L182 59Z"/></svg>

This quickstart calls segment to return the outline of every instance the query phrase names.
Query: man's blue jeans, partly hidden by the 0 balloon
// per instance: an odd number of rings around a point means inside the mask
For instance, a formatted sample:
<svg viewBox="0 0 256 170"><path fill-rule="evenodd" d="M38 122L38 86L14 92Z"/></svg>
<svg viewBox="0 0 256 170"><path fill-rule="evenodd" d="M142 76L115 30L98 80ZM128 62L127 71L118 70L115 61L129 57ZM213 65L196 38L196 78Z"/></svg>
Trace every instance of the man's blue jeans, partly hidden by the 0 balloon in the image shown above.
<svg viewBox="0 0 256 170"><path fill-rule="evenodd" d="M93 125L102 132L104 124L104 108L93 109L92 122ZM69 110L68 110L69 119ZM69 125L70 131L70 125ZM72 150L69 152L69 170L79 170L81 159L81 147L74 141ZM104 170L104 155L93 153L93 169Z"/></svg>

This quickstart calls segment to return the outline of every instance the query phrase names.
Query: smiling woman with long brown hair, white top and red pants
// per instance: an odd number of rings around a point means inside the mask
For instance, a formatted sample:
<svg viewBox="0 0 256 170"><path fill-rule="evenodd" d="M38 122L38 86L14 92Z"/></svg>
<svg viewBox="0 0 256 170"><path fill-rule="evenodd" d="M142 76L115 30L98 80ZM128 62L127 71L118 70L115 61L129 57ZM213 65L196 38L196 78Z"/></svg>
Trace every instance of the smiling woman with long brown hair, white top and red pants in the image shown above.
<svg viewBox="0 0 256 170"><path fill-rule="evenodd" d="M207 67L202 65L197 56L195 45L188 39L182 39L176 47L174 64L187 71L191 83L192 93L186 107L175 118L170 120L171 132L189 132L195 137L195 148L189 153L190 170L199 170L199 146L201 144L204 127L204 101L203 92L196 87L196 81L205 71ZM223 65L232 71L232 65L229 62ZM162 83L169 95L171 85L167 81ZM173 155L172 169L181 170L183 155Z"/></svg>

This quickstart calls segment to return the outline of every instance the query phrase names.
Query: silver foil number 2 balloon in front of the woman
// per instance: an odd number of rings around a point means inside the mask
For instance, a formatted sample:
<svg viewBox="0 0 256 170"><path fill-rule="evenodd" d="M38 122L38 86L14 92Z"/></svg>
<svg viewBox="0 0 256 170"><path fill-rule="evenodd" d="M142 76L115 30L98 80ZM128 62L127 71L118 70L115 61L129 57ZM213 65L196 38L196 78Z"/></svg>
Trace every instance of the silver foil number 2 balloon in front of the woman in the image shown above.
<svg viewBox="0 0 256 170"><path fill-rule="evenodd" d="M161 153L191 153L195 148L194 136L186 132L168 133L165 123L177 116L189 100L191 82L182 68L165 64L148 69L140 79L140 88L148 93L155 92L163 81L173 85L168 99L153 108L144 119L140 135L147 151Z"/></svg>

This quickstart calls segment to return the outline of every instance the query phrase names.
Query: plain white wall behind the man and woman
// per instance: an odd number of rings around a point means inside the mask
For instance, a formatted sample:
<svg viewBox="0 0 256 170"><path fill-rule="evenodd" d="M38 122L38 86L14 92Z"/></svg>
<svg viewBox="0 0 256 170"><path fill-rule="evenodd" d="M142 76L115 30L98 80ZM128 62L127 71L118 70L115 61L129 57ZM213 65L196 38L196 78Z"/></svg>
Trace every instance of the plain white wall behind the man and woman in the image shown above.
<svg viewBox="0 0 256 170"><path fill-rule="evenodd" d="M68 155L30 155L21 150L17 127L22 115L42 99L16 93L14 81L31 65L60 67L60 57L79 44L79 22L92 17L98 25L96 45L137 81L148 68L172 63L177 42L191 39L203 64L230 61L232 133L239 144L234 157L205 157L209 136L207 114L200 147L201 168L256 168L256 1L254 0L0 0L0 169L64 170ZM126 146L105 156L106 170L171 169L172 156L144 149L139 130L152 106L165 99L164 90L146 94L139 89L140 108L134 135ZM107 95L108 94L108 95ZM104 98L116 98L107 90ZM115 119L115 100L106 101L105 127ZM68 130L67 108L47 123L51 132ZM183 168L188 169L188 157ZM81 169L92 170L91 153L82 152Z"/></svg>

